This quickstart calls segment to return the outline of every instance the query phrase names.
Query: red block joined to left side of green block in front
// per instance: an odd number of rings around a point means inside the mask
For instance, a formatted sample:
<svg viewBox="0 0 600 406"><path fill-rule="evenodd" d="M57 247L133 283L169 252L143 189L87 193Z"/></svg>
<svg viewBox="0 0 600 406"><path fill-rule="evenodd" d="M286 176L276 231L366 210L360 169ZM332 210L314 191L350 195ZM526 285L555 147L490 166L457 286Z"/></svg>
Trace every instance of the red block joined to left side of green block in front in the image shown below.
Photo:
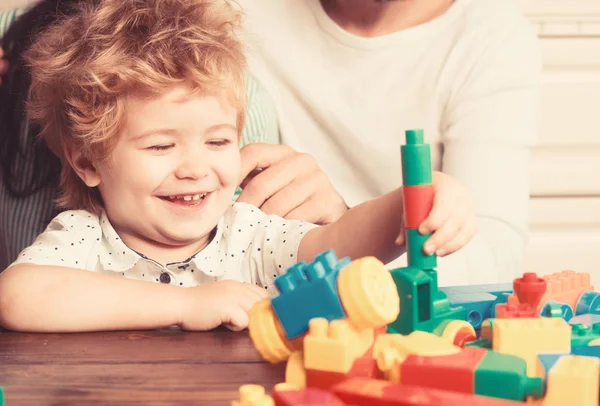
<svg viewBox="0 0 600 406"><path fill-rule="evenodd" d="M475 369L485 354L485 348L468 347L451 355L409 355L400 364L400 381L403 385L474 393Z"/></svg>

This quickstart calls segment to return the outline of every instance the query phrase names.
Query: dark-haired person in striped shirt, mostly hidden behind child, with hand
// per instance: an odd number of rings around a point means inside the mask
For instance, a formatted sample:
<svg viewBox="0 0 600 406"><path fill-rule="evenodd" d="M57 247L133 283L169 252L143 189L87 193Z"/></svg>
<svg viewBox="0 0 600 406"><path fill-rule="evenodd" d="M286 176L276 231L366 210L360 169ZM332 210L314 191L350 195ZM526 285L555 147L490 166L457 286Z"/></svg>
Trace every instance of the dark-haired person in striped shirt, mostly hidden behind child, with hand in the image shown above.
<svg viewBox="0 0 600 406"><path fill-rule="evenodd" d="M38 142L39 128L30 125L26 117L30 78L22 56L39 32L57 16L72 12L72 6L80 1L88 0L42 0L28 9L6 10L3 14L0 11L3 23L20 14L6 33L0 27L0 270L14 261L57 214L54 199L60 162L46 144ZM265 178L270 179L270 185L283 181L294 189L294 194L285 187L270 190L264 199L268 204L262 204L268 214L282 213L286 218L323 224L337 219L346 210L341 197L313 158L275 145L279 133L272 101L252 75L248 75L246 87L249 108L241 145L256 145L242 148L242 161L252 159L245 165L246 173L240 180L257 162L263 169L271 169L250 174L239 200L254 199L259 192L262 195L266 189L255 184L263 183Z"/></svg>

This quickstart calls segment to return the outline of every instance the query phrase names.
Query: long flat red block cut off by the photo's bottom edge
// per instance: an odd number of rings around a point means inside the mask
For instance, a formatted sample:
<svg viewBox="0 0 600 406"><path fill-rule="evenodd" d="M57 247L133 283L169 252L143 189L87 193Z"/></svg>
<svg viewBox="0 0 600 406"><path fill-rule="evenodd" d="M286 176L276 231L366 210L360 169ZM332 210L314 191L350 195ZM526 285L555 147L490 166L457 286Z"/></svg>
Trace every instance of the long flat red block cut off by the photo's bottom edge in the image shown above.
<svg viewBox="0 0 600 406"><path fill-rule="evenodd" d="M357 406L523 406L514 402L387 381L353 378L332 388L338 398Z"/></svg>

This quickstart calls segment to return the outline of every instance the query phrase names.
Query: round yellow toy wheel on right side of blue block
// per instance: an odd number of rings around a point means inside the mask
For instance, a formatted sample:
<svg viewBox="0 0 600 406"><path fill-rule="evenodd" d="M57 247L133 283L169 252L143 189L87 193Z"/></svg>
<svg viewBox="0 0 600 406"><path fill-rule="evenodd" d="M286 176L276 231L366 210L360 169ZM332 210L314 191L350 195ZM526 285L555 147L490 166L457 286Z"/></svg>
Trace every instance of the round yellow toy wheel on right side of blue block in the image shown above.
<svg viewBox="0 0 600 406"><path fill-rule="evenodd" d="M338 291L348 320L358 329L384 327L400 313L394 279L375 257L357 259L342 269Z"/></svg>

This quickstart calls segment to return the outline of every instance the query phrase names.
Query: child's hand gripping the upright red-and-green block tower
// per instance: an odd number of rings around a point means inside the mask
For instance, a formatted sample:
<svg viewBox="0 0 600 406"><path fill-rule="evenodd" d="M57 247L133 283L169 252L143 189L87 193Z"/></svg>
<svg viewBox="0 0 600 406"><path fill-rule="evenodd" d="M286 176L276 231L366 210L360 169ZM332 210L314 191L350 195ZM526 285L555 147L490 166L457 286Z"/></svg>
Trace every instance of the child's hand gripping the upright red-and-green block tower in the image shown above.
<svg viewBox="0 0 600 406"><path fill-rule="evenodd" d="M475 234L475 202L462 184L444 173L433 172L433 187L433 207L419 232L433 233L423 246L425 253L443 257L464 247Z"/></svg>

